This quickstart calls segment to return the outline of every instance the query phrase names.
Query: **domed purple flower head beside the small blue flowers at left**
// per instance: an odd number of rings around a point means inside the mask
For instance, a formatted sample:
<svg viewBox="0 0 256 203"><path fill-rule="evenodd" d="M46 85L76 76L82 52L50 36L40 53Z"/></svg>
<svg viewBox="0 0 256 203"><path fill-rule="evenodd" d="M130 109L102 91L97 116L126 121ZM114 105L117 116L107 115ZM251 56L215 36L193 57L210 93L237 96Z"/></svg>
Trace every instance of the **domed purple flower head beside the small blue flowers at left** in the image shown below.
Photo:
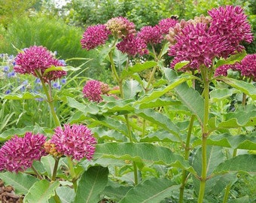
<svg viewBox="0 0 256 203"><path fill-rule="evenodd" d="M24 49L23 52L17 55L15 62L14 71L20 74L32 74L35 77L38 77L36 74L38 72L45 82L66 75L66 71L49 71L44 74L47 68L63 65L62 62L54 58L53 53L42 46L32 46Z"/></svg>

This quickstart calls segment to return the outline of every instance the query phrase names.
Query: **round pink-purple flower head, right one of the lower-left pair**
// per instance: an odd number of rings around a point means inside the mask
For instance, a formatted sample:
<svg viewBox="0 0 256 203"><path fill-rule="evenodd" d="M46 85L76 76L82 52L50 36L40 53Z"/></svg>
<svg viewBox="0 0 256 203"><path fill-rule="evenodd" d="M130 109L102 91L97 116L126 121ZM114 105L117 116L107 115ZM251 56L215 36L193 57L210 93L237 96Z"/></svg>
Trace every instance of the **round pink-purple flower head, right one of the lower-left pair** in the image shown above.
<svg viewBox="0 0 256 203"><path fill-rule="evenodd" d="M78 161L84 157L90 160L95 152L96 138L86 126L66 124L64 129L56 127L50 143L54 144L59 154L71 156Z"/></svg>

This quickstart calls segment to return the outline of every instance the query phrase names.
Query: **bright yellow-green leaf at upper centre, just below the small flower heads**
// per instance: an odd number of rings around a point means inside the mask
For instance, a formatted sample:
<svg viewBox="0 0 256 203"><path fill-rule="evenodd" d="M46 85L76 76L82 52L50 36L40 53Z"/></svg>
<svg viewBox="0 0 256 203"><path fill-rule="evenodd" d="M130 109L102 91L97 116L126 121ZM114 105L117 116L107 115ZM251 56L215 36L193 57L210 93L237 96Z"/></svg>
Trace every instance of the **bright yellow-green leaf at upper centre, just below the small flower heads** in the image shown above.
<svg viewBox="0 0 256 203"><path fill-rule="evenodd" d="M120 74L120 79L124 79L127 76L134 74L134 73L139 73L141 71L145 71L148 68L154 67L154 65L157 65L157 62L154 61L147 61L145 63L136 63L136 65L133 65L132 67L129 67L127 70L123 70L122 73Z"/></svg>

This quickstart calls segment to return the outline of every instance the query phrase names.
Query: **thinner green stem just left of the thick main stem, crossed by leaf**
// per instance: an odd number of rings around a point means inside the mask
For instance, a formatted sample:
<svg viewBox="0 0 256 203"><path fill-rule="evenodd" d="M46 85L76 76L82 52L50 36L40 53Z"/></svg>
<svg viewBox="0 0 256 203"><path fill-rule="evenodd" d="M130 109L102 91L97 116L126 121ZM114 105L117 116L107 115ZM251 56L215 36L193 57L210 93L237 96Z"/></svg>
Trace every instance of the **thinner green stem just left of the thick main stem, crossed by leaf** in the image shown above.
<svg viewBox="0 0 256 203"><path fill-rule="evenodd" d="M188 126L188 132L187 132L187 141L185 145L185 153L184 153L184 159L188 160L189 158L189 153L190 153L190 139L191 139L191 134L192 134L192 129L193 129L193 124L195 120L196 115L192 114L190 118L190 123ZM182 180L181 180L181 187L180 187L180 192L179 192L179 200L178 202L181 203L183 202L183 196L184 196L184 188L187 180L187 171L182 170Z"/></svg>

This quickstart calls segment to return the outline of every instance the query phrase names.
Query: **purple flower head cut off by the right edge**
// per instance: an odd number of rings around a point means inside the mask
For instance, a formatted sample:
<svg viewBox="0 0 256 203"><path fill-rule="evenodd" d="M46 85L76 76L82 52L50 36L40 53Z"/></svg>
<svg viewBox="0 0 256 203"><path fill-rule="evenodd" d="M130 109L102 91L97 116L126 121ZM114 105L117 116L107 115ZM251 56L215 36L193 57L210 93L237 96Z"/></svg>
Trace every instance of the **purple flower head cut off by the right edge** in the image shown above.
<svg viewBox="0 0 256 203"><path fill-rule="evenodd" d="M240 63L236 64L236 70L241 72L242 76L256 80L256 53L248 54Z"/></svg>

